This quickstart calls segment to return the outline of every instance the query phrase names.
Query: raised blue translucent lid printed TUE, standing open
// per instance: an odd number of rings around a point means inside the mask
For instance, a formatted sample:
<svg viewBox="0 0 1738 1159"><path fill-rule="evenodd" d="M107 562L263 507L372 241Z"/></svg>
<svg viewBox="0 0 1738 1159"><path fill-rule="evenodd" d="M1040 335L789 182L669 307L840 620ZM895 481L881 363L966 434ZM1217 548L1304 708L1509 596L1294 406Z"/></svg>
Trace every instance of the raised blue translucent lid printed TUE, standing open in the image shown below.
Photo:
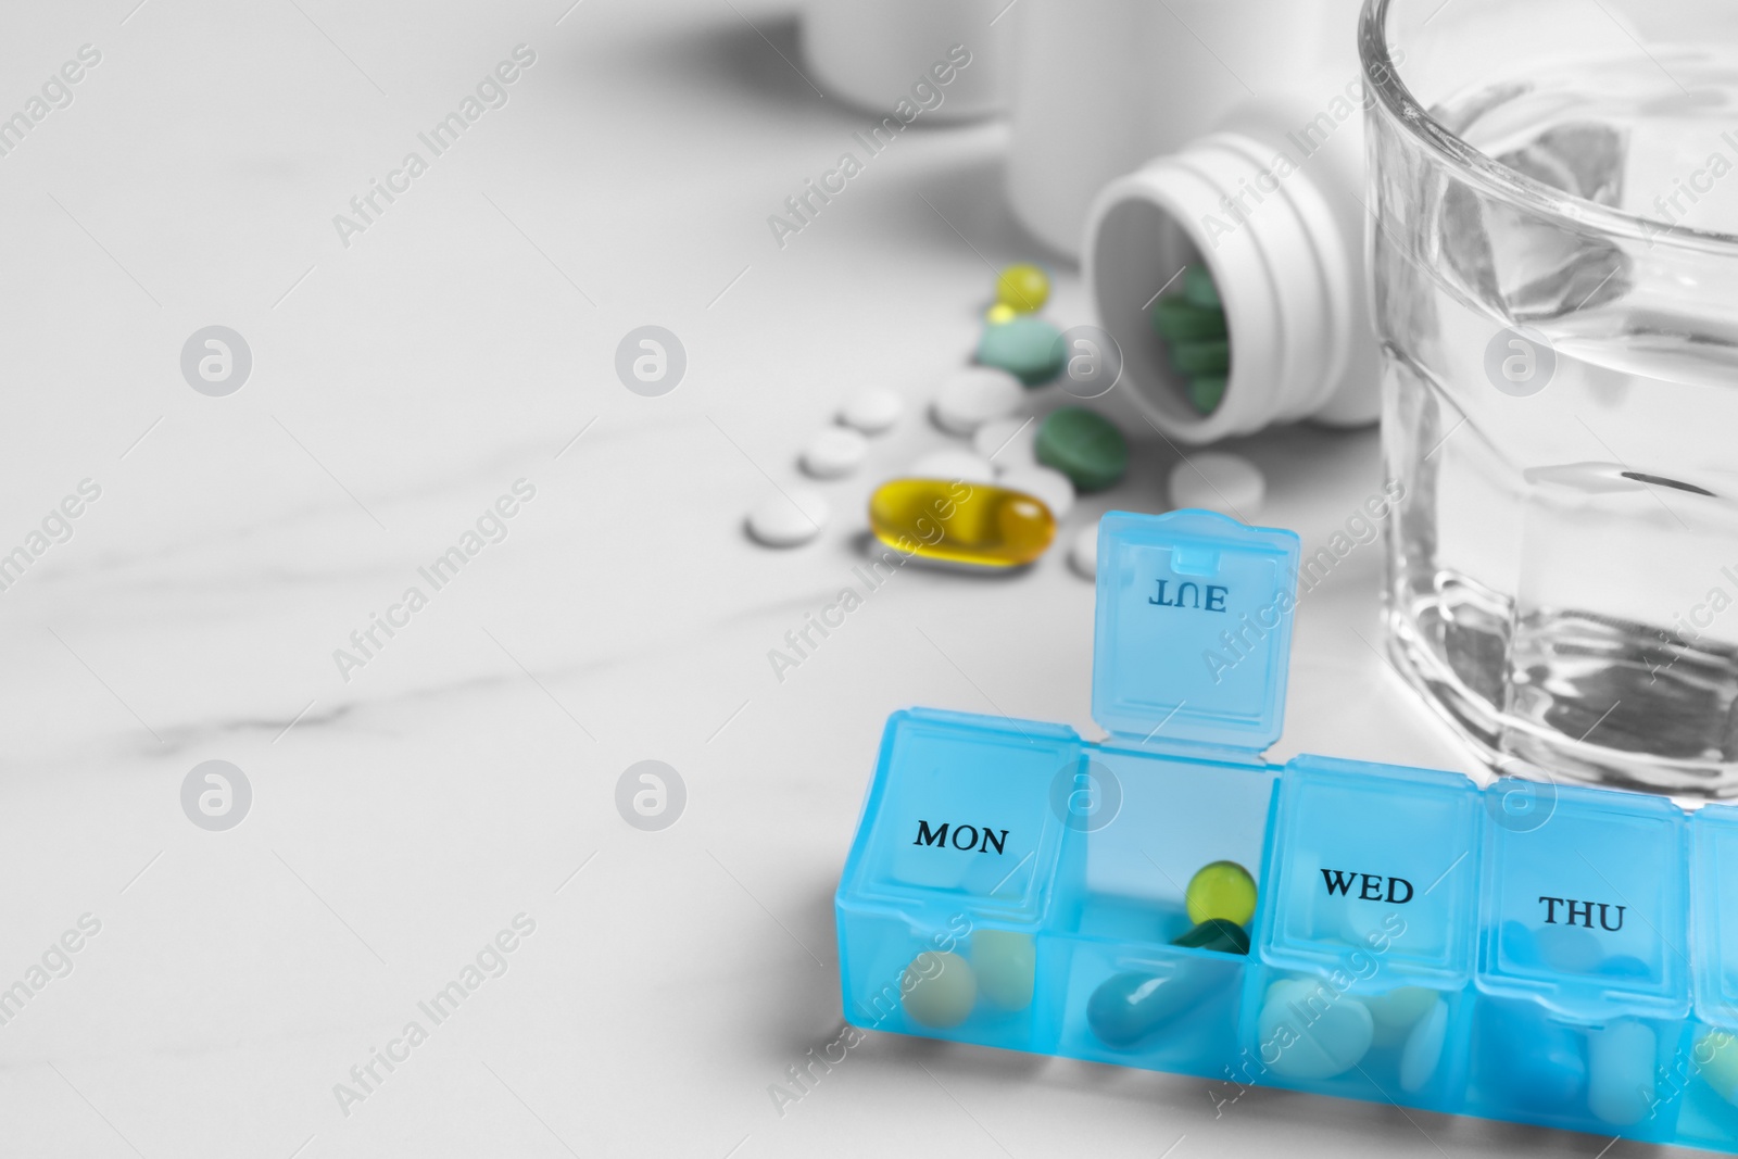
<svg viewBox="0 0 1738 1159"><path fill-rule="evenodd" d="M1298 537L1211 511L1098 521L1091 714L1119 740L1260 752L1286 716Z"/></svg>

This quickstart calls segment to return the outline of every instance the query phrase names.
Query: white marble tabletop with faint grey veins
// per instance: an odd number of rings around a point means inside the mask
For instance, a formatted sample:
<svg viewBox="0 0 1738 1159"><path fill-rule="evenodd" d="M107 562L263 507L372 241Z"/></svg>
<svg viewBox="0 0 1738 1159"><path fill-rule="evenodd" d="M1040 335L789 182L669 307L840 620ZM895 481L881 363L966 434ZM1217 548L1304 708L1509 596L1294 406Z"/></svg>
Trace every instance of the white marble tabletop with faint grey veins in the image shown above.
<svg viewBox="0 0 1738 1159"><path fill-rule="evenodd" d="M766 215L866 122L780 59L782 10L134 3L19 7L0 42L0 116L101 56L0 156L0 553L28 556L0 591L0 1154L1597 1150L1262 1091L1215 1116L1192 1079L886 1036L780 1116L839 1030L831 895L886 712L1091 728L1062 553L905 568L773 678L862 558L869 474L945 441L921 419L826 485L817 544L742 533L853 387L921 407L987 264L1031 255L1005 129L914 129L780 248ZM516 45L506 103L421 146ZM372 181L400 193L339 229ZM1072 276L1051 313L1085 320ZM662 398L612 368L645 323L688 353ZM252 351L228 396L181 372L209 325ZM1069 528L1163 509L1175 452L1137 452ZM1248 452L1307 544L1378 485L1375 433ZM429 584L518 480L506 537ZM1277 754L1460 761L1366 646L1378 575L1359 547L1305 601ZM182 811L212 759L252 789L228 831ZM641 759L687 785L660 832L615 808ZM429 1017L474 963L499 977Z"/></svg>

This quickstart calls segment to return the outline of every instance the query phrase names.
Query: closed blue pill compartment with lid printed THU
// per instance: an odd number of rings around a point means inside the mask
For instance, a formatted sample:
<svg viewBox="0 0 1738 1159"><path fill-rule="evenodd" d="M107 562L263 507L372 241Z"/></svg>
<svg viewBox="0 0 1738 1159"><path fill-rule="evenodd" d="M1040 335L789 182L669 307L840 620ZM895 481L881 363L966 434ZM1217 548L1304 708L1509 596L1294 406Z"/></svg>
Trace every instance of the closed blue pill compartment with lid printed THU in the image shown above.
<svg viewBox="0 0 1738 1159"><path fill-rule="evenodd" d="M1689 1046L1688 818L1670 801L1498 780L1484 794L1467 1109L1674 1136Z"/></svg>

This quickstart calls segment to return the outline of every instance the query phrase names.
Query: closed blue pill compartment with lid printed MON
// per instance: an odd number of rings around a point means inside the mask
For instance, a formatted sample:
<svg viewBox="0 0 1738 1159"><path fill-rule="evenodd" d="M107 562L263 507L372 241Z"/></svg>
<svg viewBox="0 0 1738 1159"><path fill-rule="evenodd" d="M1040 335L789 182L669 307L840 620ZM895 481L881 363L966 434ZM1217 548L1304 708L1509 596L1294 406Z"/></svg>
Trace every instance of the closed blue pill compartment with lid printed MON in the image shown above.
<svg viewBox="0 0 1738 1159"><path fill-rule="evenodd" d="M836 898L857 1027L1053 1051L1060 982L1041 961L1062 844L1055 785L1074 730L895 712Z"/></svg>

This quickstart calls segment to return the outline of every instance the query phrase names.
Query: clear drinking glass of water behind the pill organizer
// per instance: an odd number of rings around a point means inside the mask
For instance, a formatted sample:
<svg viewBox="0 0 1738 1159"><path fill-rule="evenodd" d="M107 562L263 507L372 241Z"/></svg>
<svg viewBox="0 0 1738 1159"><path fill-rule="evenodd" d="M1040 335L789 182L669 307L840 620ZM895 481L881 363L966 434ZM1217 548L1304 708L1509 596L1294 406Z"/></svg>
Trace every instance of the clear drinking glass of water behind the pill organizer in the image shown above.
<svg viewBox="0 0 1738 1159"><path fill-rule="evenodd" d="M1390 652L1493 765L1738 794L1738 0L1359 36Z"/></svg>

